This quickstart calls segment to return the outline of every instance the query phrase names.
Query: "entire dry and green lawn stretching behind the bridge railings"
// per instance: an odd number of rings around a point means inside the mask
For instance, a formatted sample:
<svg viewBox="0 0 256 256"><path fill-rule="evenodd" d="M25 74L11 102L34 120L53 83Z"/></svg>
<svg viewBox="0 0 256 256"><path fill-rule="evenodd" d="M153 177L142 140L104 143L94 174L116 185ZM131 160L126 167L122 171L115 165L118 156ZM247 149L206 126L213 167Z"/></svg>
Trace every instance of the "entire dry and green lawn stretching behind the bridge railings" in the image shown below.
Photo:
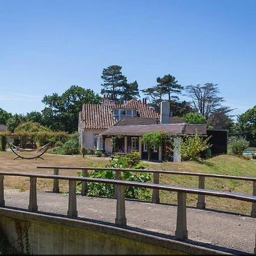
<svg viewBox="0 0 256 256"><path fill-rule="evenodd" d="M20 171L20 172L37 172L44 174L53 174L52 170L37 169L36 166L40 165L59 165L59 166L88 166L93 163L97 166L98 163L109 163L109 158L97 158L95 156L86 155L82 158L81 155L52 155L45 154L44 160L26 160L15 159L12 152L0 152L0 170L1 171ZM155 170L176 170L176 171L193 171L204 172L209 174L224 174L224 175L237 175L237 176L251 176L256 177L256 162L238 158L237 156L220 155L212 159L205 160L202 163L187 161L180 163L148 163L145 162L147 168ZM77 171L74 170L60 170L63 175L76 175ZM160 183L182 185L186 187L197 187L197 177L180 176L180 175L160 175ZM38 179L38 189L43 191L52 190L52 180ZM26 177L5 177L5 188L19 189L26 191L29 189L29 179ZM61 191L68 190L67 181L60 181ZM247 181L227 180L205 178L205 188L219 190L219 191L236 191L240 193L252 193L252 184ZM176 193L160 192L161 203L176 203ZM188 195L188 206L194 207L196 205L196 196ZM232 199L219 199L218 197L206 197L207 208L220 209L229 212L250 213L251 204L232 200Z"/></svg>

